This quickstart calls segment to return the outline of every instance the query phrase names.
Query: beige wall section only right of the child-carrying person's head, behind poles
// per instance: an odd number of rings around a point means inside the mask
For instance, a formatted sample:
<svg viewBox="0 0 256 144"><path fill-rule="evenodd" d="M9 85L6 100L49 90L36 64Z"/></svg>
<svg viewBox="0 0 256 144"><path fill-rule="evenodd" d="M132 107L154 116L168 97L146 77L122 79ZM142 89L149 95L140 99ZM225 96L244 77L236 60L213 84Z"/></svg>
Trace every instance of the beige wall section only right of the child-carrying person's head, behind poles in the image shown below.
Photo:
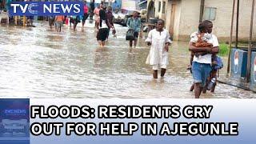
<svg viewBox="0 0 256 144"><path fill-rule="evenodd" d="M221 3L221 5L220 5ZM251 4L252 0L240 0L240 11L239 11L239 26L238 26L238 38L240 41L247 41L250 34L250 14L251 14ZM205 6L216 7L216 19L214 23L214 34L218 36L223 42L228 42L230 38L230 26L232 17L232 5L233 0L206 0ZM235 15L234 15L234 31L235 35L235 25L236 25L236 7L235 5ZM253 30L254 40L256 39L256 13L254 8L254 30Z"/></svg>

